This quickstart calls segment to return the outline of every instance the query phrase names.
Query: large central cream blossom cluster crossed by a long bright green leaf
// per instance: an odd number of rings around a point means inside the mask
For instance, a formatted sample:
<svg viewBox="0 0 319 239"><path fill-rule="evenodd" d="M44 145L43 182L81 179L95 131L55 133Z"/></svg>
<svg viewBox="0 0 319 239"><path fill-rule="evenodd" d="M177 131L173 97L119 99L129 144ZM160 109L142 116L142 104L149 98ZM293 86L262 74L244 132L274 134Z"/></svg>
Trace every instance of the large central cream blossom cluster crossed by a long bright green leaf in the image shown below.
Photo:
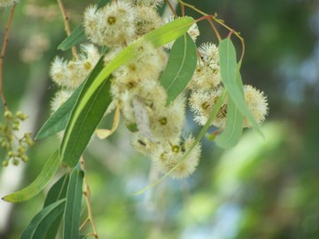
<svg viewBox="0 0 319 239"><path fill-rule="evenodd" d="M156 9L161 3L114 1L101 9L90 6L84 12L84 28L89 40L109 49L105 65L129 43L165 23ZM196 25L193 28L198 31ZM186 99L181 94L167 105L166 90L159 83L159 75L167 65L166 50L155 49L150 42L140 42L132 54L136 56L134 60L113 72L111 94L128 127L138 128L138 132L132 134L133 147L150 156L161 173L167 173L194 142L191 135L186 139L182 137ZM198 145L171 176L183 178L193 173L199 155Z"/></svg>

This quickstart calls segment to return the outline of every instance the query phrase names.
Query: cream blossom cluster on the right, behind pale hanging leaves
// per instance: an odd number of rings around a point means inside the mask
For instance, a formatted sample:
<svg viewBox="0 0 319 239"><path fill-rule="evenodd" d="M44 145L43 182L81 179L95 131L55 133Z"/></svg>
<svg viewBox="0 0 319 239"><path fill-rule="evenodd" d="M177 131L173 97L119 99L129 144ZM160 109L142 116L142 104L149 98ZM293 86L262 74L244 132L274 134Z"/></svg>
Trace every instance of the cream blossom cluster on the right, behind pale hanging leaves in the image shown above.
<svg viewBox="0 0 319 239"><path fill-rule="evenodd" d="M222 95L221 73L219 65L218 48L214 43L202 44L198 51L201 55L196 71L188 85L191 89L189 104L194 112L194 120L199 125L206 124L210 113L219 97ZM244 86L245 104L253 114L257 123L261 124L268 113L267 98L263 92L254 89L250 85ZM212 121L215 127L226 127L227 120L227 99L222 104L221 109ZM243 127L252 127L252 124L245 118Z"/></svg>

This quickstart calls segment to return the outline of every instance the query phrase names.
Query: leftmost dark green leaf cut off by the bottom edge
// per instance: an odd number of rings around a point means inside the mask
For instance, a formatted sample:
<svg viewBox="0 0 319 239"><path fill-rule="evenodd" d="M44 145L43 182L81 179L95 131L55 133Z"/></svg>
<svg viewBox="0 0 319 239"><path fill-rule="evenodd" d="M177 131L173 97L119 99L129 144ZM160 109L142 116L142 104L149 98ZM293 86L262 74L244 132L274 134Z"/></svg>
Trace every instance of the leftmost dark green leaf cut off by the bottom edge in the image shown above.
<svg viewBox="0 0 319 239"><path fill-rule="evenodd" d="M66 199L62 199L43 208L22 232L20 239L43 238L51 224L64 212L65 204Z"/></svg>

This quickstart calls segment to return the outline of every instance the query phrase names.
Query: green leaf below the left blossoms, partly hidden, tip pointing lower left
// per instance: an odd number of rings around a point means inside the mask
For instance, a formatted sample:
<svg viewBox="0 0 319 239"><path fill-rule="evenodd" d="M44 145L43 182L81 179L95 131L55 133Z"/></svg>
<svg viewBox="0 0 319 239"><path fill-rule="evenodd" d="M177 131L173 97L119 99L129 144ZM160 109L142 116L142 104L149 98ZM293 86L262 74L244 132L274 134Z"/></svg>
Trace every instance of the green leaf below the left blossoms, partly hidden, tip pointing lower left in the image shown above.
<svg viewBox="0 0 319 239"><path fill-rule="evenodd" d="M76 103L77 98L80 96L85 82L93 81L101 69L103 69L103 58L99 59L97 65L93 68L91 73L89 73L87 79L82 82L78 89L75 89L74 93L67 99L66 103L62 104L58 110L54 112L48 120L45 121L43 127L41 127L37 135L35 135L35 139L42 139L51 135L55 135L59 131L66 128L66 124L70 119L74 104Z"/></svg>

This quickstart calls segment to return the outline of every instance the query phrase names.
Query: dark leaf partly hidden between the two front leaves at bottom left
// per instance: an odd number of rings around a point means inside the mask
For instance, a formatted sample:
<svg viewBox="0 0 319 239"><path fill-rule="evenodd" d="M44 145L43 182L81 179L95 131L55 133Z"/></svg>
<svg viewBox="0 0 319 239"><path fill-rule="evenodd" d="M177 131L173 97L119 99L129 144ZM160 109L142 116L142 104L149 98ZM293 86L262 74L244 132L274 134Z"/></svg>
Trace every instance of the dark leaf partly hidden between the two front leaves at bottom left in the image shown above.
<svg viewBox="0 0 319 239"><path fill-rule="evenodd" d="M53 184L51 189L48 192L47 197L45 198L43 208L49 204L53 204L60 199L66 197L66 189L69 181L69 174L64 174L56 183ZM48 228L44 239L55 239L58 233L58 227L62 220L62 214L57 217L51 224L51 227Z"/></svg>

